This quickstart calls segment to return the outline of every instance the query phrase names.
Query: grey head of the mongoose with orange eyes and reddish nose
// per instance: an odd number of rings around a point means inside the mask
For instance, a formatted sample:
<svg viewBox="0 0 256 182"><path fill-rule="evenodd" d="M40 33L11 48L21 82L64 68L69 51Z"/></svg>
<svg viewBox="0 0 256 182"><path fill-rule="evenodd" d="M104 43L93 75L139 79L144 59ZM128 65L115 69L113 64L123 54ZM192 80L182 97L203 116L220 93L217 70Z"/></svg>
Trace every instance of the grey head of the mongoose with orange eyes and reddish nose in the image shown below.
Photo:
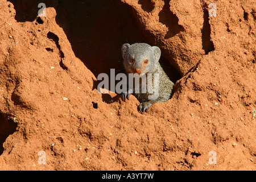
<svg viewBox="0 0 256 182"><path fill-rule="evenodd" d="M159 47L146 43L123 44L123 65L127 73L143 75L154 72L158 67L161 51Z"/></svg>

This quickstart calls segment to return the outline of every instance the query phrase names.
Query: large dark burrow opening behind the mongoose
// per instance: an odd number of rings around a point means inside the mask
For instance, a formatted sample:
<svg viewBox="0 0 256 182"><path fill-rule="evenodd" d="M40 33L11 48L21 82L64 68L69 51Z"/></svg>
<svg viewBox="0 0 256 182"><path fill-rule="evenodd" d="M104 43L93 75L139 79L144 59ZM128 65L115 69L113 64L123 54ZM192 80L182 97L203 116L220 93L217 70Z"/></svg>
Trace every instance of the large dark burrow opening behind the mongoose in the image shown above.
<svg viewBox="0 0 256 182"><path fill-rule="evenodd" d="M46 7L54 7L57 14L56 22L65 31L75 55L96 77L100 73L110 74L112 68L116 74L124 72L122 44L148 43L131 7L118 0L10 2L14 5L15 19L18 22L35 20L40 9L39 3L45 3ZM40 22L43 24L43 21ZM160 64L173 82L180 78L179 73L163 56Z"/></svg>

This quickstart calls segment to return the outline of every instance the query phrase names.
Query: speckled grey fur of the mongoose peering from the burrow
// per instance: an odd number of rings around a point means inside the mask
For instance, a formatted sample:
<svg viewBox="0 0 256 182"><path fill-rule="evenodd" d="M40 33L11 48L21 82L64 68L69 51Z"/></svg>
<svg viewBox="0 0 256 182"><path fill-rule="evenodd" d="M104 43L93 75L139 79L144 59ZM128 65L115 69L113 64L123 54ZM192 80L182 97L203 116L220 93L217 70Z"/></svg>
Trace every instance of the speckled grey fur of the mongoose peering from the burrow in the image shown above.
<svg viewBox="0 0 256 182"><path fill-rule="evenodd" d="M133 93L133 95L141 103L138 106L138 110L141 113L147 111L148 108L156 102L166 102L172 94L174 83L169 79L163 68L159 64L161 51L159 47L153 46L146 43L135 43L135 44L123 44L122 48L123 65L128 73L134 73L136 68L141 68L141 74L152 73L152 85L154 85L154 73L159 73L159 97L155 100L149 100L148 96L150 93ZM129 60L133 58L134 63L130 64ZM148 64L142 65L142 61L147 59ZM140 86L147 86L147 82L140 82ZM122 100L129 99L129 93L122 93Z"/></svg>

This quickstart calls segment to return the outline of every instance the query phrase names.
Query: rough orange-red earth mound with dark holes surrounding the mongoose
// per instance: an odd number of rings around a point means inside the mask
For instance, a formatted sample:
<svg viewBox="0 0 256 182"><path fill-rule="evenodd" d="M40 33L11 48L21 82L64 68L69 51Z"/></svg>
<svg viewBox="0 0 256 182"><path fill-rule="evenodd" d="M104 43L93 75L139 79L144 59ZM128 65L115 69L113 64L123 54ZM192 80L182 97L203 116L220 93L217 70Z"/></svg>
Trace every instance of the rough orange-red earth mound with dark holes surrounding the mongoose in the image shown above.
<svg viewBox="0 0 256 182"><path fill-rule="evenodd" d="M255 1L40 2L0 2L1 170L256 169ZM127 42L176 82L144 115L94 89Z"/></svg>

